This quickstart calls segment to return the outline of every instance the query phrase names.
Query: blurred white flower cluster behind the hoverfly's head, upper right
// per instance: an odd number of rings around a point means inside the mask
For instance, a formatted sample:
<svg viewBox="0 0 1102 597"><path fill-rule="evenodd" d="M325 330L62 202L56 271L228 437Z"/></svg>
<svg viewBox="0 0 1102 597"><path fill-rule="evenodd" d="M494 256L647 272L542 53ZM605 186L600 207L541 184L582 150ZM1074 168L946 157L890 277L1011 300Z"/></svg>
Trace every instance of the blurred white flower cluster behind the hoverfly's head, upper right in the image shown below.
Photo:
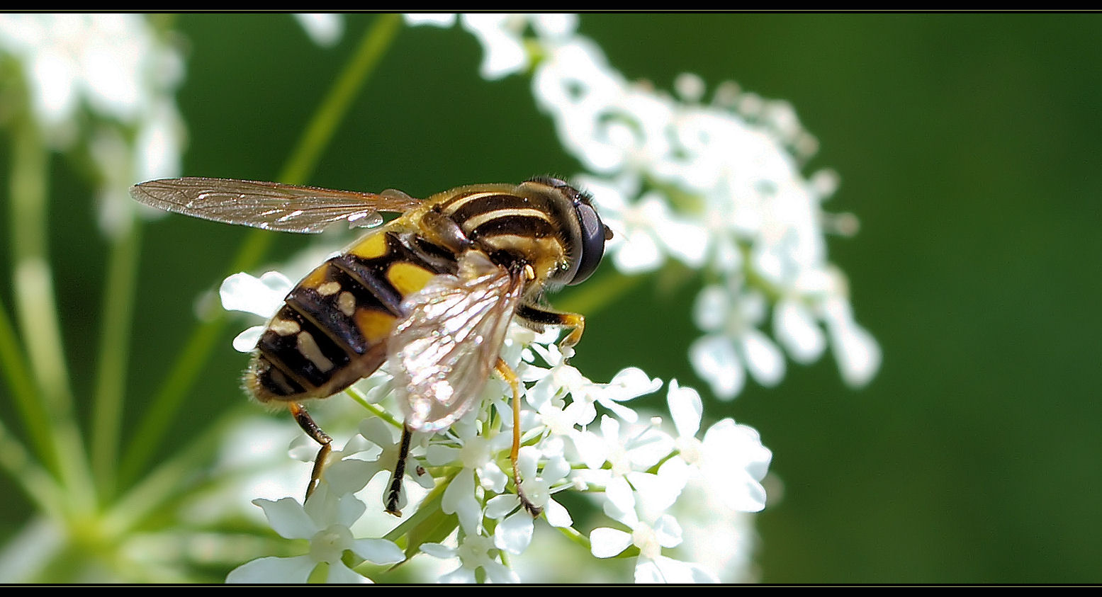
<svg viewBox="0 0 1102 597"><path fill-rule="evenodd" d="M482 74L531 69L532 91L563 146L583 165L573 180L594 196L615 231L611 261L644 273L676 260L704 274L695 305L704 335L689 358L715 395L731 399L746 373L765 386L830 345L842 378L866 383L880 362L875 339L854 321L844 274L827 260L824 231L852 234L855 219L823 211L830 172L804 177L815 141L791 106L692 74L677 95L633 83L563 14L466 14L482 42ZM455 15L408 15L450 25ZM770 318L773 337L763 332ZM779 345L779 346L778 346Z"/></svg>

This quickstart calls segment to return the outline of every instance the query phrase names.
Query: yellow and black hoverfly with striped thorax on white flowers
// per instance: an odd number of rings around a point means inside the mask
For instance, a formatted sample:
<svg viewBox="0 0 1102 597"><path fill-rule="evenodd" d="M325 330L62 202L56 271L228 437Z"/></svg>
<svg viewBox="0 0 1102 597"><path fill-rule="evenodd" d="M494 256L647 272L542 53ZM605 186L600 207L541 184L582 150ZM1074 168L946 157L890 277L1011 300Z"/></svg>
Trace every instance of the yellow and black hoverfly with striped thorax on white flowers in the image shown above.
<svg viewBox="0 0 1102 597"><path fill-rule="evenodd" d="M612 238L587 194L552 177L461 186L424 200L392 189L186 177L141 183L130 195L168 211L285 232L377 226L382 213L401 214L287 295L257 343L245 388L259 402L287 404L321 445L309 497L332 438L302 402L333 395L390 361L406 420L385 501L387 512L401 515L412 432L451 426L477 405L496 370L512 387L517 493L532 515L540 513L521 491L517 468L519 380L498 354L514 317L537 330L570 328L564 347L581 338L584 317L549 308L543 292L588 278Z"/></svg>

